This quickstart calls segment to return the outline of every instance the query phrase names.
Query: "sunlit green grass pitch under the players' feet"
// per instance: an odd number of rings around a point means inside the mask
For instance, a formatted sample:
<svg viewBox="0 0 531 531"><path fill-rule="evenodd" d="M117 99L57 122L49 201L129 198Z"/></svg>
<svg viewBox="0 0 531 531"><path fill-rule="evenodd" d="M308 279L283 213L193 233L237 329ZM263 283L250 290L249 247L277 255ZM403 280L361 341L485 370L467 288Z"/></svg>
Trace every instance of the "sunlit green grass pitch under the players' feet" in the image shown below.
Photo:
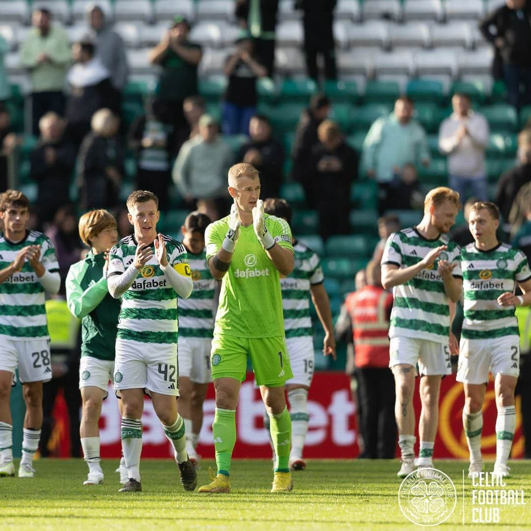
<svg viewBox="0 0 531 531"><path fill-rule="evenodd" d="M208 482L202 462L199 485ZM419 529L398 505L398 461L310 460L293 473L290 493L271 494L271 462L235 460L230 494L184 492L172 460L143 460L141 493L118 493L116 460L104 460L105 484L83 486L82 460L40 460L33 479L0 478L1 529ZM531 529L531 465L511 463L507 488L524 489L526 506L500 507L500 524L472 525L472 484L464 461L435 461L457 489L446 529ZM492 464L487 464L487 470Z"/></svg>

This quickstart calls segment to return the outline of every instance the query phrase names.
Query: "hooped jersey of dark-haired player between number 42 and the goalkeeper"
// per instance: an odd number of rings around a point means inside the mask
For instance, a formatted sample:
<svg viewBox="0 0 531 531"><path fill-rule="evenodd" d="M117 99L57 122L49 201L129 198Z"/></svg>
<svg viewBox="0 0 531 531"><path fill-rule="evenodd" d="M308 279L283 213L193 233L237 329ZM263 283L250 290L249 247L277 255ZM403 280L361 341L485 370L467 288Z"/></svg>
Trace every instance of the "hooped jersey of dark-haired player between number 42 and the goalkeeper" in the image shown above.
<svg viewBox="0 0 531 531"><path fill-rule="evenodd" d="M194 288L189 298L179 297L179 336L212 338L216 279L207 265L207 253L187 251Z"/></svg>

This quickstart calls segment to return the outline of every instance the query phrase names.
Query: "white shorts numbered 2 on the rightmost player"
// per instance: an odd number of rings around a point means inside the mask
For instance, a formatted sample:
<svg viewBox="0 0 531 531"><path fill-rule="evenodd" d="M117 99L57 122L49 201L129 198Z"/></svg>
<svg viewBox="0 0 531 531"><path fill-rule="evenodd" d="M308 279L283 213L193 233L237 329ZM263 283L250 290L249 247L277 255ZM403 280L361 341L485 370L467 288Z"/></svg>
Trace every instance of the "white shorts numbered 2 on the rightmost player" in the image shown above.
<svg viewBox="0 0 531 531"><path fill-rule="evenodd" d="M461 339L456 380L463 383L486 383L489 371L516 376L520 374L520 338Z"/></svg>

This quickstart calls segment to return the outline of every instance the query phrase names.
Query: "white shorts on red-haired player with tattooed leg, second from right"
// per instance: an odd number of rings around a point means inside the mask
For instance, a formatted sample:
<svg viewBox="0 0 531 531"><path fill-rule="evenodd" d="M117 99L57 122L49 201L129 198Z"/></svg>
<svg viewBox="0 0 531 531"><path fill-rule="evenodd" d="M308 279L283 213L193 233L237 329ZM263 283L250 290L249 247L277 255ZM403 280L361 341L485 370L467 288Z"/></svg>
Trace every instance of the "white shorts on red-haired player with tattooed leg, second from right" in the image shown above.
<svg viewBox="0 0 531 531"><path fill-rule="evenodd" d="M451 374L450 348L429 339L413 337L393 337L389 344L389 366L400 363L413 365L418 363L418 374Z"/></svg>

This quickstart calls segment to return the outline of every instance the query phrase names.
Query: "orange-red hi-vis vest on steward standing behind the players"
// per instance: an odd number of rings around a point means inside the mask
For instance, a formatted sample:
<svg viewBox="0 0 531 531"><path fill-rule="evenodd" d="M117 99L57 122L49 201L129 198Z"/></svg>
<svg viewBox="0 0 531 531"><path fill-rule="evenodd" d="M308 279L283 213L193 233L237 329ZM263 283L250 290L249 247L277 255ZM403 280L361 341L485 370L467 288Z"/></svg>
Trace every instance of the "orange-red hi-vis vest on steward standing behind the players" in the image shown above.
<svg viewBox="0 0 531 531"><path fill-rule="evenodd" d="M356 367L388 367L392 294L380 286L365 286L350 293L345 305L352 320Z"/></svg>

